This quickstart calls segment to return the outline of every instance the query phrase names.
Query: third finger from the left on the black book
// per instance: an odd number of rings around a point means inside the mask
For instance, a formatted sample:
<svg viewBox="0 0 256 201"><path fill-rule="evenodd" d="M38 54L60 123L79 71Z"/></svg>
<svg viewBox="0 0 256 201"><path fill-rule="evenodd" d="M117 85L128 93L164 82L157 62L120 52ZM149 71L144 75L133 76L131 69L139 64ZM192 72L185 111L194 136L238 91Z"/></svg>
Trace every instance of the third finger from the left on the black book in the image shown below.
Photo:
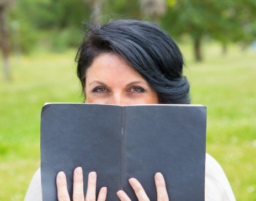
<svg viewBox="0 0 256 201"><path fill-rule="evenodd" d="M90 172L88 175L88 186L86 192L86 201L95 201L96 200L96 172Z"/></svg>

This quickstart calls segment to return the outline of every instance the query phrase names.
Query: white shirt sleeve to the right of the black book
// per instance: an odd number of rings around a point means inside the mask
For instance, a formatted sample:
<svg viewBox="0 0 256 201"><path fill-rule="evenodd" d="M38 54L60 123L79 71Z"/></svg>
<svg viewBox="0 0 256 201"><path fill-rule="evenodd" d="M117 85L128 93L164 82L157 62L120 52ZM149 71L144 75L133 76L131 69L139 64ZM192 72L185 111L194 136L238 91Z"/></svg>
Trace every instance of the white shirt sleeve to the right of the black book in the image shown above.
<svg viewBox="0 0 256 201"><path fill-rule="evenodd" d="M209 154L205 161L205 201L236 201L225 172Z"/></svg>

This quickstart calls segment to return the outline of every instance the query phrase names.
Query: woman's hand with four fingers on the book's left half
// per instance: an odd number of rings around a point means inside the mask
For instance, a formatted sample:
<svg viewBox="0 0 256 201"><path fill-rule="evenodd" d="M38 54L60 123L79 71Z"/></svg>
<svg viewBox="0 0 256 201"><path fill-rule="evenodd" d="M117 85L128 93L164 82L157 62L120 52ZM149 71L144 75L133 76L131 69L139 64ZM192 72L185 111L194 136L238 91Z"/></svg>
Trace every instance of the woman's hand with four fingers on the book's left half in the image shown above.
<svg viewBox="0 0 256 201"><path fill-rule="evenodd" d="M88 175L88 186L86 192L86 201L96 200L96 172L90 172ZM74 170L73 177L73 201L84 201L83 192L83 170L82 167L77 167ZM58 172L57 178L57 191L58 191L58 201L70 201L70 196L67 191L67 180L64 172ZM97 201L106 200L106 187L102 187L99 191L99 196Z"/></svg>

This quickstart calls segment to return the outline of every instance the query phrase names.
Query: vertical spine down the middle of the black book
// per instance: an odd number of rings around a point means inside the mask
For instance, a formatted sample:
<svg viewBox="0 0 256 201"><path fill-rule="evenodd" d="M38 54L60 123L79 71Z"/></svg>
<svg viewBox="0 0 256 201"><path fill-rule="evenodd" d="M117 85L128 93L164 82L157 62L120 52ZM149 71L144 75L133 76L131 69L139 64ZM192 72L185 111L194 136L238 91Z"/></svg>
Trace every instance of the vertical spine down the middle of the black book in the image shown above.
<svg viewBox="0 0 256 201"><path fill-rule="evenodd" d="M125 174L125 107L122 107L121 111L121 175L120 175L120 184L121 189L124 187L124 174Z"/></svg>

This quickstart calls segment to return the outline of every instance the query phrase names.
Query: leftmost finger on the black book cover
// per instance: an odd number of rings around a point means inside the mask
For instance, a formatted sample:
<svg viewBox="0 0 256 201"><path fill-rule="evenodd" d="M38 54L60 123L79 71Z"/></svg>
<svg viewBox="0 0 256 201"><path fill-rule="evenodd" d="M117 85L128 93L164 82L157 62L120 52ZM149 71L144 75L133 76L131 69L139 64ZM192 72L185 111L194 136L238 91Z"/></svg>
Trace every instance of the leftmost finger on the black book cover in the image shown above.
<svg viewBox="0 0 256 201"><path fill-rule="evenodd" d="M64 172L58 172L56 178L58 201L70 201L70 196L67 191L67 181Z"/></svg>

